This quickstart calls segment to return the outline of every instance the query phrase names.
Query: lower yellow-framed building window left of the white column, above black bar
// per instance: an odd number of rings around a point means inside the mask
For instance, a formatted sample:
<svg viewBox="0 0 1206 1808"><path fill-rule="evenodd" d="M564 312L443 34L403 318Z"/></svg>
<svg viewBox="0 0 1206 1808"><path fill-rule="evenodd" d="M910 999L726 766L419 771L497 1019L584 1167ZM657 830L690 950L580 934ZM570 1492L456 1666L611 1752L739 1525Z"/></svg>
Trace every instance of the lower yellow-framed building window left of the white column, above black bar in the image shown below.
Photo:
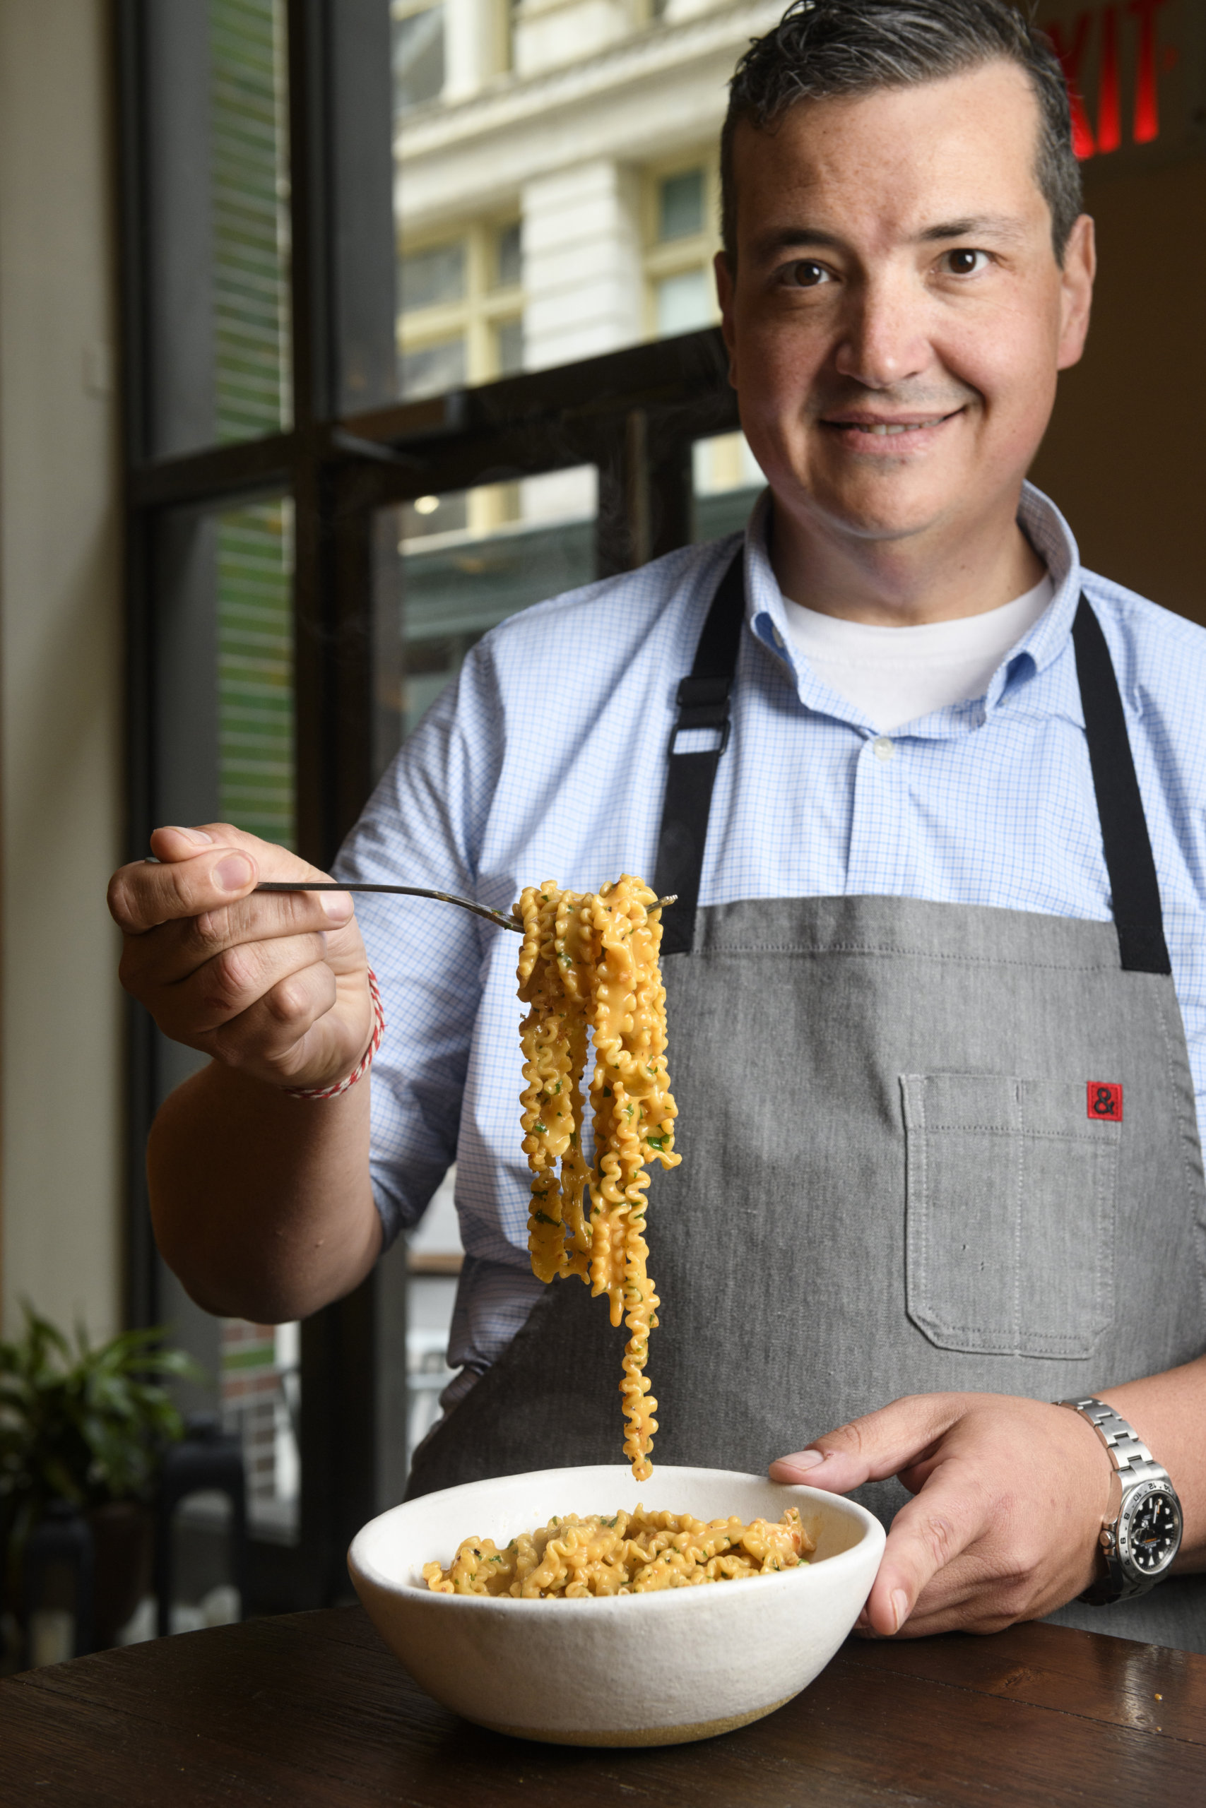
<svg viewBox="0 0 1206 1808"><path fill-rule="evenodd" d="M398 358L407 401L523 369L517 221L465 226L403 244Z"/></svg>

